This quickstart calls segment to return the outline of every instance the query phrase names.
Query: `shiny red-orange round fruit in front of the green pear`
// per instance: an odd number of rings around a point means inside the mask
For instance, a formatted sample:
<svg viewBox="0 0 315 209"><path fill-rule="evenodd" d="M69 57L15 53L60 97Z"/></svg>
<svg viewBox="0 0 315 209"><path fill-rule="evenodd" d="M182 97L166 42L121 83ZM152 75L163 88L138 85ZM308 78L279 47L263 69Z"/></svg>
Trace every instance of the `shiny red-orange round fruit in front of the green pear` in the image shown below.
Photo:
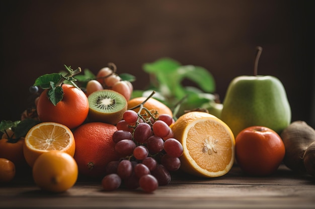
<svg viewBox="0 0 315 209"><path fill-rule="evenodd" d="M247 174L264 176L274 173L285 154L281 137L264 126L251 126L235 138L235 157Z"/></svg>

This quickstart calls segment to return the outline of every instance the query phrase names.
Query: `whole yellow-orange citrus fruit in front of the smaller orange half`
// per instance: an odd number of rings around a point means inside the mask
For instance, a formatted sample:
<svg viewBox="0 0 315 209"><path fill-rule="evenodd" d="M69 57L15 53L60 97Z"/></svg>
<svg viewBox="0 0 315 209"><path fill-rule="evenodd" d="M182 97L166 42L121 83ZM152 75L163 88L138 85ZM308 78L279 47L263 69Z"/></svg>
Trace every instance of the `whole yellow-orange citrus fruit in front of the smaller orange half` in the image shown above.
<svg viewBox="0 0 315 209"><path fill-rule="evenodd" d="M77 164L68 153L52 150L40 155L33 166L33 179L43 190L63 192L76 182Z"/></svg>

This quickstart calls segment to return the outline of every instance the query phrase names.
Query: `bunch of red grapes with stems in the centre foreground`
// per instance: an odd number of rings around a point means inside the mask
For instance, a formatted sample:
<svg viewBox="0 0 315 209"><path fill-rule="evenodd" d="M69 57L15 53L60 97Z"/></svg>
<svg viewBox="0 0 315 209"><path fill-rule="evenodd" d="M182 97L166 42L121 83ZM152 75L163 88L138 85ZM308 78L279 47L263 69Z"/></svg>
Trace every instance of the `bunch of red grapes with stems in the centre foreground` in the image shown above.
<svg viewBox="0 0 315 209"><path fill-rule="evenodd" d="M145 110L145 114L140 114L141 110ZM179 157L183 154L183 146L173 138L170 128L173 118L167 114L156 118L156 114L142 105L138 112L124 112L113 134L115 150L121 159L108 163L102 180L104 190L140 187L145 192L152 192L159 185L170 183L170 172L181 165Z"/></svg>

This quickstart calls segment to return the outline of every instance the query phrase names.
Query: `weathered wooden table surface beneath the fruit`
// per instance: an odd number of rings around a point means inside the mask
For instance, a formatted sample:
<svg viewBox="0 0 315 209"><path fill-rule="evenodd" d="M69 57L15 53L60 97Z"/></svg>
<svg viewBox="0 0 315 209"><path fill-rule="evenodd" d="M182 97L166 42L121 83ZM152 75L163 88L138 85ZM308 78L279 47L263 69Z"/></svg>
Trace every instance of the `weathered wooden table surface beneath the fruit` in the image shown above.
<svg viewBox="0 0 315 209"><path fill-rule="evenodd" d="M315 177L285 165L268 177L244 175L237 165L224 176L197 178L175 173L152 193L102 190L99 180L79 178L66 192L40 190L31 176L0 184L0 208L315 208Z"/></svg>

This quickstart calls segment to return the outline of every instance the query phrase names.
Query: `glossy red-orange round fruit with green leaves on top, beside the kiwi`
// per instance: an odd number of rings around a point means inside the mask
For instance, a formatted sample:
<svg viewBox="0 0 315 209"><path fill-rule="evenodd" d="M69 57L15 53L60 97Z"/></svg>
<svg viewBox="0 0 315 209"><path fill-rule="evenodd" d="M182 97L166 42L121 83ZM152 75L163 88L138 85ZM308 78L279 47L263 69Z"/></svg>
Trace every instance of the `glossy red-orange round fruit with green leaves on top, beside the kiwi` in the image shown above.
<svg viewBox="0 0 315 209"><path fill-rule="evenodd" d="M81 125L89 113L89 101L86 94L76 87L63 84L63 98L55 105L47 95L47 89L39 96L37 113L42 122L61 123L72 129Z"/></svg>

